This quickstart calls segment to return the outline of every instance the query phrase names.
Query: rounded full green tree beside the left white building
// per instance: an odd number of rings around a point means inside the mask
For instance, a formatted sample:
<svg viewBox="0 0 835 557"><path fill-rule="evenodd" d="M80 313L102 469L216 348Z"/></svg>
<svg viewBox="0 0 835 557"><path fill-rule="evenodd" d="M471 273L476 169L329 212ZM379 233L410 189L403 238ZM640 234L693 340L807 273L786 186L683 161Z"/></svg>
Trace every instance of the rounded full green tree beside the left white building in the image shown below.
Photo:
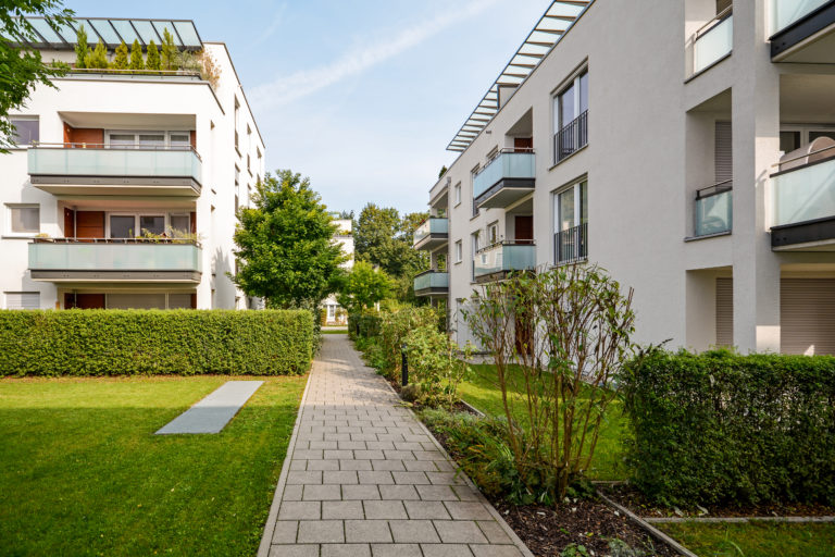
<svg viewBox="0 0 835 557"><path fill-rule="evenodd" d="M336 292L346 257L310 180L289 170L267 174L252 201L253 208L238 210L235 284L271 308L311 308Z"/></svg>

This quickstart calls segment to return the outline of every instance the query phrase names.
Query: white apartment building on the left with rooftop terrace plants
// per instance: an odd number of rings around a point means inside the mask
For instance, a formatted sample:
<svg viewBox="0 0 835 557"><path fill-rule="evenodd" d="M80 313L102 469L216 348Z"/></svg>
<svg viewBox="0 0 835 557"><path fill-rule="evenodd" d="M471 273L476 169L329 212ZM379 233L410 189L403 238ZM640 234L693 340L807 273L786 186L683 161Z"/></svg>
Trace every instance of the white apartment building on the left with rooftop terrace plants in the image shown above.
<svg viewBox="0 0 835 557"><path fill-rule="evenodd" d="M61 33L30 21L45 61L75 63L79 25L111 59L122 40L159 46L169 29L220 76L73 67L10 115L18 147L0 154L0 307L253 305L227 273L264 143L226 46L191 21L78 18Z"/></svg>

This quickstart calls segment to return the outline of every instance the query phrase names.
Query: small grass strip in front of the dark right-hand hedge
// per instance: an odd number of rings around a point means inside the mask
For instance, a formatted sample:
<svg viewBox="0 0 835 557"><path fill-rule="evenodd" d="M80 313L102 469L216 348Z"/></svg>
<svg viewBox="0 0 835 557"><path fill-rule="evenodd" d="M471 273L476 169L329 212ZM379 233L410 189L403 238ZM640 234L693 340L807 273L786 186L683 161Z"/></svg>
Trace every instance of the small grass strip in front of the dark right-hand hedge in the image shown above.
<svg viewBox="0 0 835 557"><path fill-rule="evenodd" d="M657 524L702 557L771 557L835 554L833 523L705 523Z"/></svg>

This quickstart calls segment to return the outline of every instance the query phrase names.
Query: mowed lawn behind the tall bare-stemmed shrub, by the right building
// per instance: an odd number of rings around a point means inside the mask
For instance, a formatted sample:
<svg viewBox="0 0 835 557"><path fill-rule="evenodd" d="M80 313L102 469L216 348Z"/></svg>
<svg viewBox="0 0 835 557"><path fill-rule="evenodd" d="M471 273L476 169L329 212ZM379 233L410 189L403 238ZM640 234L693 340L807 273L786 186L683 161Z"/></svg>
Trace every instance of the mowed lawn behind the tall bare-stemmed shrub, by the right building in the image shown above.
<svg viewBox="0 0 835 557"><path fill-rule="evenodd" d="M501 401L501 391L496 379L496 368L491 364L472 366L473 373L461 384L459 394L469 404L490 416L504 416ZM518 368L511 368L511 385L513 392L521 393L523 385L522 373ZM523 399L511 399L516 416L525 416L526 404ZM625 480L628 470L623 461L623 441L630 435L627 418L623 413L623 404L613 400L603 418L600 436L588 470L593 480Z"/></svg>

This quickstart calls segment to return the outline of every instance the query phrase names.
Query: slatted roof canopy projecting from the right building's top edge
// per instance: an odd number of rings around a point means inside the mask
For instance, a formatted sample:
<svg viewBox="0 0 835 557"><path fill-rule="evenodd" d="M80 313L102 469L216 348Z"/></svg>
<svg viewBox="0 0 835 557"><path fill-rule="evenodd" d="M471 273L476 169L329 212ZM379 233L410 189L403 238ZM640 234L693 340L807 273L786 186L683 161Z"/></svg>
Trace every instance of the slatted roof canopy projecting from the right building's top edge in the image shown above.
<svg viewBox="0 0 835 557"><path fill-rule="evenodd" d="M551 2L456 137L449 143L447 150L463 151L470 146L501 108L499 89L509 89L502 90L501 95L504 96L506 92L510 94L519 87L593 1L556 0Z"/></svg>

